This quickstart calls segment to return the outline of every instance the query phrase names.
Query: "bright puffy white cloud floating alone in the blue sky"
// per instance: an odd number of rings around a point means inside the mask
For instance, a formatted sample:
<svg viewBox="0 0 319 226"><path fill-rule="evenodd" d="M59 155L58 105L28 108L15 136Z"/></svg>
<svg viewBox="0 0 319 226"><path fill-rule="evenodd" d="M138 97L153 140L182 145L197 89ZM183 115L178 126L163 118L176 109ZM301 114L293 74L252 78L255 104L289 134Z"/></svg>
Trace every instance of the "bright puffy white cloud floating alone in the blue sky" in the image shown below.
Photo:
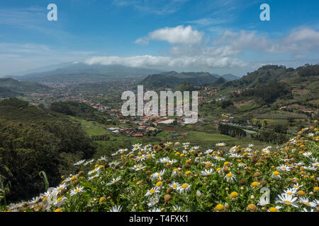
<svg viewBox="0 0 319 226"><path fill-rule="evenodd" d="M150 32L145 38L139 38L135 41L138 44L147 44L148 40L167 41L171 44L196 44L201 42L203 32L193 30L191 25L184 27L179 25L175 28L161 28Z"/></svg>

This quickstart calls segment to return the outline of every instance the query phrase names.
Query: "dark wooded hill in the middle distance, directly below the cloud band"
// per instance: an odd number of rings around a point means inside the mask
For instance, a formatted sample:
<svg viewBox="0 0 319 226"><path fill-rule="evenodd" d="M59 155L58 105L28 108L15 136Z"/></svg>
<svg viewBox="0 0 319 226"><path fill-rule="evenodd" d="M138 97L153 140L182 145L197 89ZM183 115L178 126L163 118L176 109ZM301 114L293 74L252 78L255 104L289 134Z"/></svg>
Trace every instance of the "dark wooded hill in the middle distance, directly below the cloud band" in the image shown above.
<svg viewBox="0 0 319 226"><path fill-rule="evenodd" d="M161 74L149 75L140 81L140 85L147 88L169 87L175 88L181 83L191 83L194 85L209 85L217 81L216 76L208 72L181 72L168 71Z"/></svg>

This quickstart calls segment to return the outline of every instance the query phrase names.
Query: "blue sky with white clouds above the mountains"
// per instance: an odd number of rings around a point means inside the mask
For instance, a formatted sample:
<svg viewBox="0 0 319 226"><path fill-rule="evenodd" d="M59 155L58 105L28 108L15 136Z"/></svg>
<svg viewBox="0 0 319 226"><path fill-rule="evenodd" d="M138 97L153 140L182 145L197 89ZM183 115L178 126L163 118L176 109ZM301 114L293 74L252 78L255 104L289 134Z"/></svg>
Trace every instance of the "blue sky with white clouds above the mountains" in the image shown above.
<svg viewBox="0 0 319 226"><path fill-rule="evenodd" d="M57 21L47 5L57 5ZM259 19L269 4L270 21ZM319 62L319 1L4 0L0 74L69 61L243 75Z"/></svg>

